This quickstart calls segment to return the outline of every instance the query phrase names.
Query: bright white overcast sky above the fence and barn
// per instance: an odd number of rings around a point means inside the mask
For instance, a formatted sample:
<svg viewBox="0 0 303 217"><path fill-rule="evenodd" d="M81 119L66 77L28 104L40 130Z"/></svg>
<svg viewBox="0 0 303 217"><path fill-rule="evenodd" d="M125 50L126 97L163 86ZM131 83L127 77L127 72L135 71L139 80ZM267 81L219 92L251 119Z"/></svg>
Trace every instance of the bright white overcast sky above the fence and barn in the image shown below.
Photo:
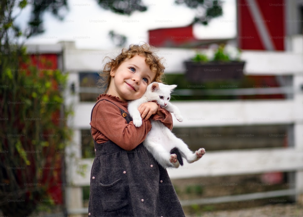
<svg viewBox="0 0 303 217"><path fill-rule="evenodd" d="M131 16L117 15L98 6L96 0L68 0L63 21L46 13L45 33L28 40L28 44L55 44L58 41L75 41L78 48L111 49L114 44L108 32L114 30L127 36L127 44L148 41L148 30L156 28L183 27L190 24L195 14L185 6L176 5L175 0L143 0L146 12L135 12ZM30 8L19 16L18 23L29 20ZM236 37L236 3L224 0L223 16L213 19L208 26L194 25L198 39Z"/></svg>

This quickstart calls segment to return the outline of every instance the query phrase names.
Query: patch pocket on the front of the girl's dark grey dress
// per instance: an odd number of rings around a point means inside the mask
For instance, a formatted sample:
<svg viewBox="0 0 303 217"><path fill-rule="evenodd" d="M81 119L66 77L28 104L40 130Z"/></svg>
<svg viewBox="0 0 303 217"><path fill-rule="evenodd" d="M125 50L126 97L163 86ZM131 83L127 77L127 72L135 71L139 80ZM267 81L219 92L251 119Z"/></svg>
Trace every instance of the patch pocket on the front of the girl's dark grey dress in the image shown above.
<svg viewBox="0 0 303 217"><path fill-rule="evenodd" d="M118 179L108 185L99 184L102 192L101 203L104 211L119 210L128 205L127 186L123 185L122 179Z"/></svg>

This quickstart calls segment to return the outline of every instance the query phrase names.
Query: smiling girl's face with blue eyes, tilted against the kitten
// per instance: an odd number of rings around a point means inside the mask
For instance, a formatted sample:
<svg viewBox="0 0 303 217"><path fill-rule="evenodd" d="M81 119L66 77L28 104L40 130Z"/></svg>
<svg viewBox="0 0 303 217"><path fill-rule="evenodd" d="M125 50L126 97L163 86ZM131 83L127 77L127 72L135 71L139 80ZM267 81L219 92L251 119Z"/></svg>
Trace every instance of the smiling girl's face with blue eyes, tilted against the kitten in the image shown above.
<svg viewBox="0 0 303 217"><path fill-rule="evenodd" d="M128 101L141 98L148 84L155 79L156 73L145 63L145 57L135 55L126 58L118 68L112 69L111 76L107 94Z"/></svg>

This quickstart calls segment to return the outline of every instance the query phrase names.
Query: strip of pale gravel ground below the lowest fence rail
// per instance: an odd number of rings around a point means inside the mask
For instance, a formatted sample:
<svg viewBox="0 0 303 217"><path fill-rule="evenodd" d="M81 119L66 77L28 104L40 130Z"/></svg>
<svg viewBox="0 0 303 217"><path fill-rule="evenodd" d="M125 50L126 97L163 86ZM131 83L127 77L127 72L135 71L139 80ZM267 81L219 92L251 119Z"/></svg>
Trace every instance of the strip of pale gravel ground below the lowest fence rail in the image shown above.
<svg viewBox="0 0 303 217"><path fill-rule="evenodd" d="M200 216L200 215L199 215ZM303 206L296 204L275 204L249 209L204 212L203 217L303 217ZM186 215L198 217L198 215Z"/></svg>

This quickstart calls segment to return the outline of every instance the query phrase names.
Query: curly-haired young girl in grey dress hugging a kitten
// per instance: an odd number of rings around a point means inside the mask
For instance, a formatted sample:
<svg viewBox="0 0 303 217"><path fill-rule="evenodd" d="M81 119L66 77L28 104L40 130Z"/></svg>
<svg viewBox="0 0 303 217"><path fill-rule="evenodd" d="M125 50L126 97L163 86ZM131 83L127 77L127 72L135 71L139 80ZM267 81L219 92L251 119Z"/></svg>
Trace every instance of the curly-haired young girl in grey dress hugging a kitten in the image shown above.
<svg viewBox="0 0 303 217"><path fill-rule="evenodd" d="M105 64L106 94L98 96L90 123L96 157L88 216L185 216L166 169L142 145L149 118L171 129L171 114L155 102L144 103L137 128L127 111L129 100L139 99L151 82L161 82L164 69L148 44L130 45Z"/></svg>

